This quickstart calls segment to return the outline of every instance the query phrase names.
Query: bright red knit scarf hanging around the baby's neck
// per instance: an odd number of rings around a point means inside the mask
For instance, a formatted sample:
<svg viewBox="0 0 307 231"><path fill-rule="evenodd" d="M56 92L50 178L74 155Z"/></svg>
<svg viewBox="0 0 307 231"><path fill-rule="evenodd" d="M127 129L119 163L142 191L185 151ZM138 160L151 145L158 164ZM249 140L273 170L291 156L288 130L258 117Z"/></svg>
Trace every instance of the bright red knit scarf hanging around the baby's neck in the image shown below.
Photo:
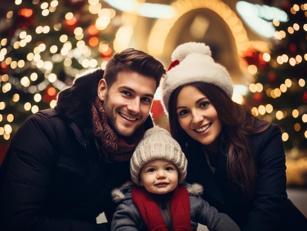
<svg viewBox="0 0 307 231"><path fill-rule="evenodd" d="M150 231L168 231L162 213L144 187L132 188L132 200ZM171 199L173 231L191 231L190 200L185 186L177 186Z"/></svg>

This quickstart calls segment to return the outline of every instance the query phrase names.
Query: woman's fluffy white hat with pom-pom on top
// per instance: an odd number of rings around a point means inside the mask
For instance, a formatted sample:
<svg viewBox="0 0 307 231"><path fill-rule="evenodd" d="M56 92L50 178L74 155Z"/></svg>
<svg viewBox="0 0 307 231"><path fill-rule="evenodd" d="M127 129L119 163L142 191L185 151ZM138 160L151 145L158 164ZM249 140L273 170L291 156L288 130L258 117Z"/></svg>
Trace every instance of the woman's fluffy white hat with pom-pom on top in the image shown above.
<svg viewBox="0 0 307 231"><path fill-rule="evenodd" d="M212 83L232 97L233 85L229 73L213 60L211 50L205 43L188 42L179 45L172 53L172 61L173 67L169 68L161 84L161 103L166 114L172 92L188 83Z"/></svg>

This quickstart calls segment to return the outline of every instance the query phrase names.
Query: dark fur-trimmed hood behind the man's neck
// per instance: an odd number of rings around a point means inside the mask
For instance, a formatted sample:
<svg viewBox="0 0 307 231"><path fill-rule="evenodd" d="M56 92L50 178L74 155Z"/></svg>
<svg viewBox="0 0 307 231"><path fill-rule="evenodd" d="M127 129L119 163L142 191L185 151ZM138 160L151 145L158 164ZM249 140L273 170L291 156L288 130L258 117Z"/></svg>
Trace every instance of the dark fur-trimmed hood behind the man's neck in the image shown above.
<svg viewBox="0 0 307 231"><path fill-rule="evenodd" d="M92 103L97 97L98 83L103 77L103 70L91 69L74 80L71 87L59 92L55 110L63 119L76 123L85 134L92 133Z"/></svg>

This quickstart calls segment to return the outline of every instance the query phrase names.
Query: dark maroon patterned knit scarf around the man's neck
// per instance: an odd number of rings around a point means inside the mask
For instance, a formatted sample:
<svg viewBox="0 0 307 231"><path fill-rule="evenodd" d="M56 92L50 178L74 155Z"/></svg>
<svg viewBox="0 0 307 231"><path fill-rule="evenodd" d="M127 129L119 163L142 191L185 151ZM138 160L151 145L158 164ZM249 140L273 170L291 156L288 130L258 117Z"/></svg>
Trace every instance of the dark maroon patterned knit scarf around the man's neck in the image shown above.
<svg viewBox="0 0 307 231"><path fill-rule="evenodd" d="M92 105L93 129L98 138L99 148L105 160L109 163L128 161L144 135L144 126L138 128L132 136L118 136L110 127L103 104L96 97Z"/></svg>

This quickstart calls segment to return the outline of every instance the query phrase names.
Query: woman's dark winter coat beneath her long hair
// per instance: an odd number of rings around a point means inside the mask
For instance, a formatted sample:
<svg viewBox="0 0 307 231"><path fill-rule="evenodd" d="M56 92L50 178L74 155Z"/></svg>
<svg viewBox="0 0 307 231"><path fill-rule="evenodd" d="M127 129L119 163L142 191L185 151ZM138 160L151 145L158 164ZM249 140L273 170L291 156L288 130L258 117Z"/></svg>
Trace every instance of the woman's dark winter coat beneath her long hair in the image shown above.
<svg viewBox="0 0 307 231"><path fill-rule="evenodd" d="M228 154L223 147L213 174L204 147L196 141L189 143L185 151L188 159L186 181L202 184L205 201L228 214L242 231L307 230L306 218L287 200L280 128L272 124L267 130L251 135L249 140L258 172L253 198L243 196L239 190L230 190L226 168Z"/></svg>

